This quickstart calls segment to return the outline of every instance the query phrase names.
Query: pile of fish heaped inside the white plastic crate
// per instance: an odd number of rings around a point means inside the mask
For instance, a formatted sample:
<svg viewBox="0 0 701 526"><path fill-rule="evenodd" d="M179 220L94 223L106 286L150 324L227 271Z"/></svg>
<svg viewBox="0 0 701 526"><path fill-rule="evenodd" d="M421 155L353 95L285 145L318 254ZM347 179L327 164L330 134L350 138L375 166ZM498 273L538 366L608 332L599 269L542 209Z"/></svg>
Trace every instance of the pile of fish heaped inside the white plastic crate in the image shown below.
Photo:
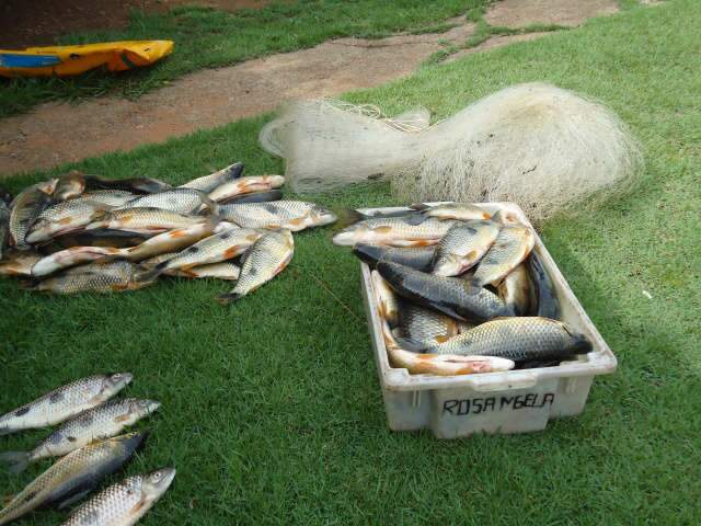
<svg viewBox="0 0 701 526"><path fill-rule="evenodd" d="M558 319L532 228L512 214L448 203L354 216L334 243L374 267L395 367L450 376L552 366L591 351Z"/></svg>

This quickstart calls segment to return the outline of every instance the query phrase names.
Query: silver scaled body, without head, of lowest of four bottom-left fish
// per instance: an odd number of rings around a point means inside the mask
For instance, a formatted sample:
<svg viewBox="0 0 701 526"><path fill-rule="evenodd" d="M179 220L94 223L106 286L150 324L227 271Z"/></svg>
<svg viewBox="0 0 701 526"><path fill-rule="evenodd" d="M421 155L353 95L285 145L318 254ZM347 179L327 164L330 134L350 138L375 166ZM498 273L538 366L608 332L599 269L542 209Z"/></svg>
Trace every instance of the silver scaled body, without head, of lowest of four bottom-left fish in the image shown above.
<svg viewBox="0 0 701 526"><path fill-rule="evenodd" d="M79 507L64 526L126 526L134 524L131 510L141 502L143 476L112 484Z"/></svg>

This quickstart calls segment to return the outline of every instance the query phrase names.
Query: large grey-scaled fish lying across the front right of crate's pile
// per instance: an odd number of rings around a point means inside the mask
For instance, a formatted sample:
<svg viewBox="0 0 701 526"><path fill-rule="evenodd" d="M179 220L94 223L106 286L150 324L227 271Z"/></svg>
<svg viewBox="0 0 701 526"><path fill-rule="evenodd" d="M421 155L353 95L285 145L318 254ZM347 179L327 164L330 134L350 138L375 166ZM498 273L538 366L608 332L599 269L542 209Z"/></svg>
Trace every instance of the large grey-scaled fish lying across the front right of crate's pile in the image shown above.
<svg viewBox="0 0 701 526"><path fill-rule="evenodd" d="M497 356L526 362L563 361L589 353L591 348L587 336L566 323L548 318L517 317L484 322L444 343L422 347L420 351L432 354Z"/></svg>

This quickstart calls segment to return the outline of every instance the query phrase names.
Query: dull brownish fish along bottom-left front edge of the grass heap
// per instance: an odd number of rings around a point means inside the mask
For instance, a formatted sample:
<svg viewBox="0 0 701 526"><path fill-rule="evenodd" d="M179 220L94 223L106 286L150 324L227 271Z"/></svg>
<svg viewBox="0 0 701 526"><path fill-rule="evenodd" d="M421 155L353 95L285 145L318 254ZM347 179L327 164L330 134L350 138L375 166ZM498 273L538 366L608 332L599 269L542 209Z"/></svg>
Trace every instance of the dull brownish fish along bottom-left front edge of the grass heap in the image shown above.
<svg viewBox="0 0 701 526"><path fill-rule="evenodd" d="M55 294L118 293L138 290L153 283L137 279L139 267L129 261L94 262L67 268L27 288Z"/></svg>

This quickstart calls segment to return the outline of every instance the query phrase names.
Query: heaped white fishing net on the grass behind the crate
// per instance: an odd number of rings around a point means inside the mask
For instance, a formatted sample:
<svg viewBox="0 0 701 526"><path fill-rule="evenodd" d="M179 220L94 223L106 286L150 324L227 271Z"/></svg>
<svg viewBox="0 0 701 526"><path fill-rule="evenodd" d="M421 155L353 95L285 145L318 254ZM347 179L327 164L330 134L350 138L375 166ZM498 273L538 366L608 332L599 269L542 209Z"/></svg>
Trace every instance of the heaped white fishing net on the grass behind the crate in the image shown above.
<svg viewBox="0 0 701 526"><path fill-rule="evenodd" d="M404 203L512 201L531 220L625 190L642 165L636 140L604 105L543 83L489 95L427 126L376 106L301 101L261 133L286 159L296 192L391 180Z"/></svg>

